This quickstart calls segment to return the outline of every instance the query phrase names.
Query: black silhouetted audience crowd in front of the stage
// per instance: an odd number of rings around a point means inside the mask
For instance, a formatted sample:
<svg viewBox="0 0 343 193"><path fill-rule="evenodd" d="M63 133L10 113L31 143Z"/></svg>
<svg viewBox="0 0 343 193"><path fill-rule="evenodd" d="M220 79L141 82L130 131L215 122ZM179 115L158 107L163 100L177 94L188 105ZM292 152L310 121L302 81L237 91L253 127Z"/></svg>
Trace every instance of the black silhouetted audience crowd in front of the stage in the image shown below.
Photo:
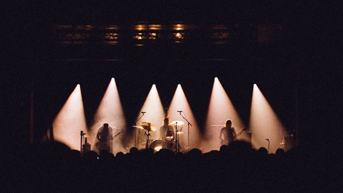
<svg viewBox="0 0 343 193"><path fill-rule="evenodd" d="M18 155L21 185L26 191L254 191L302 190L303 173L297 149L268 154L245 142L223 145L219 151L192 149L177 153L161 149L113 155L102 150L81 155L49 141ZM18 169L17 168L17 169Z"/></svg>

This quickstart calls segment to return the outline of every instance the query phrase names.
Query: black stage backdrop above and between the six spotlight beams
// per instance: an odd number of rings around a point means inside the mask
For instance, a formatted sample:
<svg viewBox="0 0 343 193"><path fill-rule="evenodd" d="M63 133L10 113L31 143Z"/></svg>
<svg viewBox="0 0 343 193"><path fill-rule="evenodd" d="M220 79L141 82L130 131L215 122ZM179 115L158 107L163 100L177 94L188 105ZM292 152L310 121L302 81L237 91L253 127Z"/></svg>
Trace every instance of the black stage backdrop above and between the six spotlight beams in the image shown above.
<svg viewBox="0 0 343 193"><path fill-rule="evenodd" d="M169 106L177 85L181 84L198 123L202 125L214 77L218 77L246 124L249 123L252 86L256 83L281 121L294 134L296 74L288 67L288 62L277 59L206 61L195 57L54 61L31 67L32 73L25 76L34 84L37 138L44 134L77 84L81 85L90 126L112 77L116 79L128 125L135 121L152 84L156 84L164 107Z"/></svg>

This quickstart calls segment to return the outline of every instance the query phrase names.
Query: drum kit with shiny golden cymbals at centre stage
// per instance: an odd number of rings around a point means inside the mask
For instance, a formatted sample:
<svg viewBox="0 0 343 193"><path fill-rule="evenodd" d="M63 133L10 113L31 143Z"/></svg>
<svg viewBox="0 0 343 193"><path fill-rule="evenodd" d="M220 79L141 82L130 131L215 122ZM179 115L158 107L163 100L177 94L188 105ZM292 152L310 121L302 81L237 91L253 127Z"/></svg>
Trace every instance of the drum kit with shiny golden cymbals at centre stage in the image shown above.
<svg viewBox="0 0 343 193"><path fill-rule="evenodd" d="M142 122L141 126L133 126L138 129L146 130L144 136L146 138L146 142L142 143L145 144L145 149L151 148L153 149L154 153L158 152L160 149L169 149L174 151L175 153L181 152L182 148L180 146L180 139L179 135L184 134L183 132L178 130L178 126L184 125L185 123L182 121L172 121L169 125L175 127L176 132L172 130L167 130L166 136L164 140L160 139L150 139L151 134L150 132L155 132L157 128L154 124L150 122Z"/></svg>

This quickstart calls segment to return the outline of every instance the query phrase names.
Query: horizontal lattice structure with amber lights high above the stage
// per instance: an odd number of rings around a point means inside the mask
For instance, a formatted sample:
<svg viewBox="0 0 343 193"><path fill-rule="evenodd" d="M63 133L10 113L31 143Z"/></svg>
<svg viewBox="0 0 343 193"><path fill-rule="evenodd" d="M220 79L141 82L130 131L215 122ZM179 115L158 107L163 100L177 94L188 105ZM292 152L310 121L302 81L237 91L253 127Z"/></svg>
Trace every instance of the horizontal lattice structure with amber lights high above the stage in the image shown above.
<svg viewBox="0 0 343 193"><path fill-rule="evenodd" d="M53 40L59 45L148 45L148 44L230 44L234 42L275 43L282 39L282 25L188 25L136 24L55 25Z"/></svg>

